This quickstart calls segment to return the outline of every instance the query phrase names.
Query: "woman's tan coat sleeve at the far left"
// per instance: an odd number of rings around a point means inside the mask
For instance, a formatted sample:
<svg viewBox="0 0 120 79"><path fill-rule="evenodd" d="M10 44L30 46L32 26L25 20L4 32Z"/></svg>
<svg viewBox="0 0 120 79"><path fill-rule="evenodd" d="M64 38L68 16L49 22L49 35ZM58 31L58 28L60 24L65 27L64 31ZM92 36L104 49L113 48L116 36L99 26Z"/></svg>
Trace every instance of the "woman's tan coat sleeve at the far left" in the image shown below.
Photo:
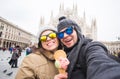
<svg viewBox="0 0 120 79"><path fill-rule="evenodd" d="M34 68L30 58L25 57L23 59L15 79L35 79Z"/></svg>

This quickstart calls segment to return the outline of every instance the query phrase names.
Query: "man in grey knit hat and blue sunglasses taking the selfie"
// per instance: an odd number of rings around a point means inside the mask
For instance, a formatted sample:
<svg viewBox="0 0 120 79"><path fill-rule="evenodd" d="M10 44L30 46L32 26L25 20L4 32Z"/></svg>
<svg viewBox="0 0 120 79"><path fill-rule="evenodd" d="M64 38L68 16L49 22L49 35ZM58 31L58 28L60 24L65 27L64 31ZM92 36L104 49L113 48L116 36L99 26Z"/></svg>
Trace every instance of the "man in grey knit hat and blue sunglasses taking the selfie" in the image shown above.
<svg viewBox="0 0 120 79"><path fill-rule="evenodd" d="M120 64L109 57L104 44L85 37L78 24L59 18L58 38L70 61L68 79L120 79ZM61 74L54 79L64 79Z"/></svg>

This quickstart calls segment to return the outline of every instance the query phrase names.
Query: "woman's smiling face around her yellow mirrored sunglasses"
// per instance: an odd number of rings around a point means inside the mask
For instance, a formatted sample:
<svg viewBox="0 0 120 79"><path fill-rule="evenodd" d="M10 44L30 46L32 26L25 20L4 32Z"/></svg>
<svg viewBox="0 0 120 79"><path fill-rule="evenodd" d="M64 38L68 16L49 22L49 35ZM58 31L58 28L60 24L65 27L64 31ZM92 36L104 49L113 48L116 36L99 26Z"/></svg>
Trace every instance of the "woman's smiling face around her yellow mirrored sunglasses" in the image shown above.
<svg viewBox="0 0 120 79"><path fill-rule="evenodd" d="M59 46L59 41L58 41L57 37L56 38L50 38L48 36L50 33L53 33L53 31L46 30L41 34L41 36L47 35L46 41L41 41L41 45L45 50L55 51L55 50L57 50L57 48Z"/></svg>

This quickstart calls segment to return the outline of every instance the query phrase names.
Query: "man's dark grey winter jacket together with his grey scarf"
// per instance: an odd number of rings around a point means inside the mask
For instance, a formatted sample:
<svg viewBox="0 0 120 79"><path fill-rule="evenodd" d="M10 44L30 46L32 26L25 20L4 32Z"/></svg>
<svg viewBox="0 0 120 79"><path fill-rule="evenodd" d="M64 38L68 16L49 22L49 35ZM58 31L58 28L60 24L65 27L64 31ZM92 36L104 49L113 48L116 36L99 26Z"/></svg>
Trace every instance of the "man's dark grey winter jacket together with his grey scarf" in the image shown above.
<svg viewBox="0 0 120 79"><path fill-rule="evenodd" d="M70 61L68 79L120 79L120 64L108 56L107 48L89 41L77 28L78 42L72 48L65 47Z"/></svg>

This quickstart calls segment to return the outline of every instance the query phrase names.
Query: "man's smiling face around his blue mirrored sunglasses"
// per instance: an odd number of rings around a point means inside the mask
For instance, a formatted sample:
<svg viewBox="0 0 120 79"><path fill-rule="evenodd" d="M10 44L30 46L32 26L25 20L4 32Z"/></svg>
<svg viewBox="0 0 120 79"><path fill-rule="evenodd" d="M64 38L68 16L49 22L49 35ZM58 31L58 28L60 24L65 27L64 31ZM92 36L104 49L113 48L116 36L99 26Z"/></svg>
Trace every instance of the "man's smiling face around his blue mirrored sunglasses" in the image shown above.
<svg viewBox="0 0 120 79"><path fill-rule="evenodd" d="M67 28L62 29L60 32L65 31ZM64 33L64 37L60 39L61 42L68 48L72 47L77 42L77 33L73 29L73 33L68 35Z"/></svg>

